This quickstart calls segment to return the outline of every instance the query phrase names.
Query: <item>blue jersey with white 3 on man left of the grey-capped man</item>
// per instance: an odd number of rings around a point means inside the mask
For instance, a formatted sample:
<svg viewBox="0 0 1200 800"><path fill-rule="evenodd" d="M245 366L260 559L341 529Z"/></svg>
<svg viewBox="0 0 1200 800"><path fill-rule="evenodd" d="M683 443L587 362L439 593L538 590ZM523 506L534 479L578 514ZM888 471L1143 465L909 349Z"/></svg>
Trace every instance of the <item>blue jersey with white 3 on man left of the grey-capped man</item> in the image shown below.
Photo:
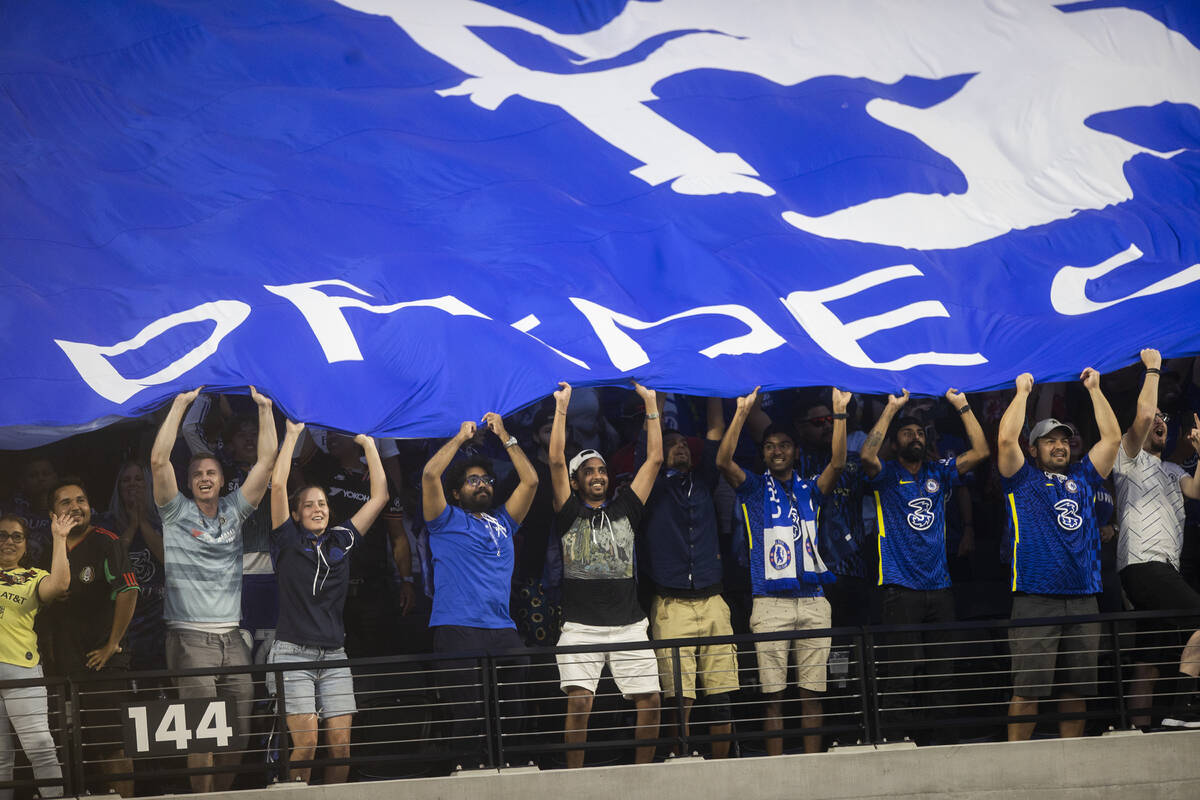
<svg viewBox="0 0 1200 800"><path fill-rule="evenodd" d="M917 474L898 461L883 462L868 479L878 521L878 583L908 589L947 589L946 503L959 486L956 458L922 464Z"/></svg>

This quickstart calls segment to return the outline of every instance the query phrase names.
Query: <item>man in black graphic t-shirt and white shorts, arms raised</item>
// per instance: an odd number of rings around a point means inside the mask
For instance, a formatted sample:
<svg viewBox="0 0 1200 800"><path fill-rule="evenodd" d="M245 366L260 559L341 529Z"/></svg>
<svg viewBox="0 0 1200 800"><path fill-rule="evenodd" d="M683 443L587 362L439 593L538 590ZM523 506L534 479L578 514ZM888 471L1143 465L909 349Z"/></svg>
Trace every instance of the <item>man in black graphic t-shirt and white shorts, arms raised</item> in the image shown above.
<svg viewBox="0 0 1200 800"><path fill-rule="evenodd" d="M662 464L662 429L654 392L634 384L646 407L646 462L632 482L608 500L608 468L595 450L584 450L566 463L566 409L571 387L554 392L554 423L550 432L550 477L554 512L563 537L563 634L560 646L647 642L649 622L637 602L635 531ZM574 491L572 491L574 489ZM588 716L605 664L617 688L637 708L636 739L659 732L659 667L650 650L560 652L559 686L566 693L569 745L587 741ZM566 751L569 768L583 766L584 751ZM636 760L654 758L654 746L637 748Z"/></svg>

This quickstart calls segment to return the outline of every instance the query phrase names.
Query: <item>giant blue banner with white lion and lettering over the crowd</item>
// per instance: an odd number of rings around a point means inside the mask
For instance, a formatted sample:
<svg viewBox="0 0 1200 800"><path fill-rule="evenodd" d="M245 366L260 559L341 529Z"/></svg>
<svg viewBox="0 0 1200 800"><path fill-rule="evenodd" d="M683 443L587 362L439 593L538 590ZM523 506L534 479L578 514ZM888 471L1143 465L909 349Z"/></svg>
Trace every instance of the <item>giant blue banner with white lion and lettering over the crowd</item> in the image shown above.
<svg viewBox="0 0 1200 800"><path fill-rule="evenodd" d="M1200 350L1187 0L43 0L0 88L0 444Z"/></svg>

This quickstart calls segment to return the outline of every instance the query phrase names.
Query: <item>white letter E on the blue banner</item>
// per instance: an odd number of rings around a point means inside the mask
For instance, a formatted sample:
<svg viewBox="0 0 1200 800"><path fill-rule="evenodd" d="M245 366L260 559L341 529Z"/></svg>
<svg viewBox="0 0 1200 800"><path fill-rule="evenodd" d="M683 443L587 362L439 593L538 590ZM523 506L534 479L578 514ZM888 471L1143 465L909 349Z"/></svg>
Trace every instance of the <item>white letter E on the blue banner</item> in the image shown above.
<svg viewBox="0 0 1200 800"><path fill-rule="evenodd" d="M986 363L988 359L979 353L910 353L890 361L875 361L859 347L859 339L866 338L871 333L900 327L918 319L949 317L950 313L946 311L946 306L936 300L922 300L850 323L841 321L826 307L827 302L848 297L872 287L900 278L922 277L922 271L912 264L886 266L827 289L793 291L780 300L822 350L851 367L899 372L922 365L970 367Z"/></svg>

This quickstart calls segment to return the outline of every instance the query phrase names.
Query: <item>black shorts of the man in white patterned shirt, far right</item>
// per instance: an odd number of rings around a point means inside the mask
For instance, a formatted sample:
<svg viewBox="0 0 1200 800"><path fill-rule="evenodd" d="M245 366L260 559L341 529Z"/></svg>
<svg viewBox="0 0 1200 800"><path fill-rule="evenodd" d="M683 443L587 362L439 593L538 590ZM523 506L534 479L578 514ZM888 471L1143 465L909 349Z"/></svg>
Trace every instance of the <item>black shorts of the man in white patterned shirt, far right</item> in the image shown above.
<svg viewBox="0 0 1200 800"><path fill-rule="evenodd" d="M1134 610L1195 612L1194 615L1138 620L1134 658L1139 663L1164 664L1168 668L1175 664L1180 656L1176 649L1183 646L1192 631L1200 627L1200 593L1165 561L1130 564L1121 570L1121 588Z"/></svg>

